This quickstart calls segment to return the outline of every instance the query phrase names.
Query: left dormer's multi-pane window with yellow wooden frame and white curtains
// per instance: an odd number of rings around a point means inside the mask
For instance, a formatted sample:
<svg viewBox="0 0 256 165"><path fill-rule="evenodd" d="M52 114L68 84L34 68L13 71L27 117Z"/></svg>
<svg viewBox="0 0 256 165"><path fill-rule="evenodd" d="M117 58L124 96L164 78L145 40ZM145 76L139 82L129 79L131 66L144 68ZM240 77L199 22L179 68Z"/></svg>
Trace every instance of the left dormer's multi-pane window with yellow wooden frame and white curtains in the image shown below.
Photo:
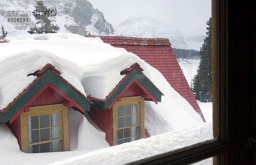
<svg viewBox="0 0 256 165"><path fill-rule="evenodd" d="M70 150L68 110L63 104L30 107L20 114L20 127L23 152Z"/></svg>

